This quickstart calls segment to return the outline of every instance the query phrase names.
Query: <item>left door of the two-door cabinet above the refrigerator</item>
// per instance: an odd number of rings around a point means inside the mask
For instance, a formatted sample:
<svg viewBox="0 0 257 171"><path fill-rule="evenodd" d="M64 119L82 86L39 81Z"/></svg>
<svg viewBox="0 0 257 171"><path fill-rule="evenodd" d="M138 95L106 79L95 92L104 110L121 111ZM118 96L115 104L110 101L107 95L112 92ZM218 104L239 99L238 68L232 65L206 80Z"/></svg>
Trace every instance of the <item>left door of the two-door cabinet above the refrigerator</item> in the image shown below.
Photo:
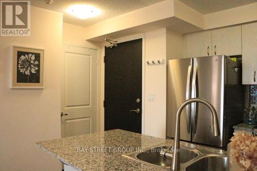
<svg viewBox="0 0 257 171"><path fill-rule="evenodd" d="M192 33L186 35L187 58L211 56L211 31Z"/></svg>

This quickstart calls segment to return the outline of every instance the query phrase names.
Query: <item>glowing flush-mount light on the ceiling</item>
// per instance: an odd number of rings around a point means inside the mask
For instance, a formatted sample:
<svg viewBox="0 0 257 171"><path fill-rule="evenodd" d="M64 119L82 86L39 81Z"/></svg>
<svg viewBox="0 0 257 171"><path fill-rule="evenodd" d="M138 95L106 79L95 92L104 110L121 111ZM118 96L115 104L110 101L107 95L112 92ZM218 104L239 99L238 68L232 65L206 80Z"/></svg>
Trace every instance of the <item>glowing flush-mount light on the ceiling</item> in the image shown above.
<svg viewBox="0 0 257 171"><path fill-rule="evenodd" d="M98 8L90 5L73 5L69 7L66 12L80 19L86 19L101 14Z"/></svg>

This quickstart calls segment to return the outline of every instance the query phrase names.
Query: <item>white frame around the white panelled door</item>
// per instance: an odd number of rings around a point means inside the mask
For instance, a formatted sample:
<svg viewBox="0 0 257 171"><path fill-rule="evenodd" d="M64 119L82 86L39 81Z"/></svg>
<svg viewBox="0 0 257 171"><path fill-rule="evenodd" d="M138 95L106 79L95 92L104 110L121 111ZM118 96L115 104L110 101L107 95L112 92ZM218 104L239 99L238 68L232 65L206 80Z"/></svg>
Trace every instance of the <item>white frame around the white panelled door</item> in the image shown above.
<svg viewBox="0 0 257 171"><path fill-rule="evenodd" d="M78 47L78 48L85 48L85 49L93 49L93 50L97 50L97 116L96 116L96 120L97 120L97 132L101 131L100 127L100 110L101 110L101 103L100 103L100 85L101 85L101 75L100 75L100 58L101 58L101 48L98 48L96 46L80 46L80 45L74 45L74 44L68 44L68 43L64 43L63 44L63 57L65 57L65 46L73 46L73 47ZM64 91L64 71L65 71L65 63L64 63L64 59L63 59L63 65L62 65L62 85L61 85L61 91ZM63 97L62 97L63 98ZM62 107L62 106L61 106ZM62 108L61 108L62 110Z"/></svg>

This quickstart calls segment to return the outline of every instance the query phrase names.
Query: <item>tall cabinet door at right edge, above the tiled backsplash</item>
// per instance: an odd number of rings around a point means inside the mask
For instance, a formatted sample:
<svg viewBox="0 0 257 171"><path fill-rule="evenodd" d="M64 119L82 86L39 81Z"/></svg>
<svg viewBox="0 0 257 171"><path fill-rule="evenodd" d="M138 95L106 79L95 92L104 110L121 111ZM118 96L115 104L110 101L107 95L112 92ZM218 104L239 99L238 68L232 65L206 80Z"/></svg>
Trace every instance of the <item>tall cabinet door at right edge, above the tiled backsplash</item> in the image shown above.
<svg viewBox="0 0 257 171"><path fill-rule="evenodd" d="M242 60L243 84L257 84L257 23L242 26Z"/></svg>

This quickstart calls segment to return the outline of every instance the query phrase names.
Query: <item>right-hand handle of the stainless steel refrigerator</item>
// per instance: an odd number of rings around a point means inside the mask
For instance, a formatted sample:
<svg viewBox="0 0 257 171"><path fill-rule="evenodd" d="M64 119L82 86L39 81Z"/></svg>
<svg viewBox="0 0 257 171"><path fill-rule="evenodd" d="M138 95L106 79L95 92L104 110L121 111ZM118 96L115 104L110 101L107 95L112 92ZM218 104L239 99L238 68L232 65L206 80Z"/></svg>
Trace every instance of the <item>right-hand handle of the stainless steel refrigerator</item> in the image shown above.
<svg viewBox="0 0 257 171"><path fill-rule="evenodd" d="M193 79L192 79L192 98L197 98L197 66L193 68ZM197 114L198 114L198 103L191 103L191 120L192 120L192 132L196 133L197 127Z"/></svg>

